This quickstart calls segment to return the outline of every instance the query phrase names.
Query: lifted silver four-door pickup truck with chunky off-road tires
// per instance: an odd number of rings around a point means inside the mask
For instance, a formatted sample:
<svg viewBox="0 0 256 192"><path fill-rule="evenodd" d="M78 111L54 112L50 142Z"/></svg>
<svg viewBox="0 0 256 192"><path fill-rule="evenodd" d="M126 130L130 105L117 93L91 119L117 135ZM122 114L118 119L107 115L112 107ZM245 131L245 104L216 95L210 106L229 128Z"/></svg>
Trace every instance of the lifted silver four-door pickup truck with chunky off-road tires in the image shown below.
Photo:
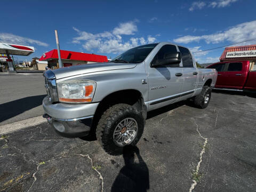
<svg viewBox="0 0 256 192"><path fill-rule="evenodd" d="M191 52L168 42L135 47L107 63L47 70L47 121L64 137L95 134L103 149L121 154L136 145L147 111L182 100L205 108L217 72L198 69Z"/></svg>

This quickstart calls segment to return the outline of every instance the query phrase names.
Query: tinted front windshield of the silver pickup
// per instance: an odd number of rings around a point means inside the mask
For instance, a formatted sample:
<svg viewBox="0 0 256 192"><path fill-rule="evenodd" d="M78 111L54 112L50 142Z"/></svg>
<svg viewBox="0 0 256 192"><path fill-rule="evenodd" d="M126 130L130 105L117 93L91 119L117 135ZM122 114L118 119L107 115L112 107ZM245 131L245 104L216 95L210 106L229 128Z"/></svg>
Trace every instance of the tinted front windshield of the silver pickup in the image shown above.
<svg viewBox="0 0 256 192"><path fill-rule="evenodd" d="M148 54L155 48L158 43L142 45L134 47L109 62L125 62L125 63L139 63L146 59Z"/></svg>

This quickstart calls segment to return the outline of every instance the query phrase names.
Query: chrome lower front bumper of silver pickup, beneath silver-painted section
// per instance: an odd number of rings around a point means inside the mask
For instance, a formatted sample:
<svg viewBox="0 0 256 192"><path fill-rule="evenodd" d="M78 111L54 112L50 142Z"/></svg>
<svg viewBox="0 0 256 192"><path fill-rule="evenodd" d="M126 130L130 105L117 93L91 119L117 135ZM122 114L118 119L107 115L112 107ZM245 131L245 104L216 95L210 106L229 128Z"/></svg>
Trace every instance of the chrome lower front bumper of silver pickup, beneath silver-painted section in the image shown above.
<svg viewBox="0 0 256 192"><path fill-rule="evenodd" d="M93 116L57 119L48 114L43 115L47 122L54 127L55 131L63 137L84 137L90 133Z"/></svg>

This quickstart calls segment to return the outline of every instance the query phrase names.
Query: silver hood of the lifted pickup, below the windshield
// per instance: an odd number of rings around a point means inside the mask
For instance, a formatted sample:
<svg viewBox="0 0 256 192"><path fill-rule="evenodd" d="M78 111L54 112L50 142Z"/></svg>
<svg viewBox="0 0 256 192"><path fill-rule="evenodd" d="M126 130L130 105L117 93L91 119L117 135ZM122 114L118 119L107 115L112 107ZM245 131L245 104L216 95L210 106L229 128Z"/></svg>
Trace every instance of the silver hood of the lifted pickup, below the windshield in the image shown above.
<svg viewBox="0 0 256 192"><path fill-rule="evenodd" d="M57 79L95 73L99 71L116 70L116 69L131 69L137 64L135 63L114 63L114 62L103 62L103 63L91 63L78 66L62 67L59 69L52 70Z"/></svg>

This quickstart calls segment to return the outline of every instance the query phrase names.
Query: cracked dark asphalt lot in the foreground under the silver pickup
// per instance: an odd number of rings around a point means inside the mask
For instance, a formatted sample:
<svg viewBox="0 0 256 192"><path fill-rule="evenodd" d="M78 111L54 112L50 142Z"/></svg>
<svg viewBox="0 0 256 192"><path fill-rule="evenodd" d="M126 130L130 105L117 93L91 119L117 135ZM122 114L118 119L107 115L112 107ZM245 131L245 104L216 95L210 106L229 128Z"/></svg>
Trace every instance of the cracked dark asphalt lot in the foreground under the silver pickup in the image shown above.
<svg viewBox="0 0 256 192"><path fill-rule="evenodd" d="M151 111L138 148L121 156L47 123L2 135L0 191L255 191L255 98L214 92L206 109L183 104Z"/></svg>

